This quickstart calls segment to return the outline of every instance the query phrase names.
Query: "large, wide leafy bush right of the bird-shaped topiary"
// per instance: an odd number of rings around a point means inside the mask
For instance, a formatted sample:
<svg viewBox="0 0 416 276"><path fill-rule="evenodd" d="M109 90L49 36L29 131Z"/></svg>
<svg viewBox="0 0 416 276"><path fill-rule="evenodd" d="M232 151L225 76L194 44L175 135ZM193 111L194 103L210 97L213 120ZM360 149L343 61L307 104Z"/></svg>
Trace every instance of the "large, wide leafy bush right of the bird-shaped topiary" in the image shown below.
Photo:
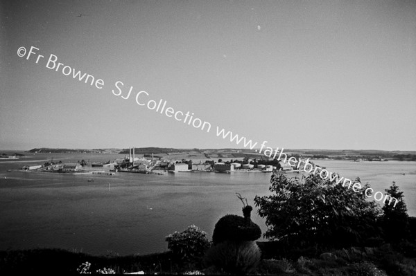
<svg viewBox="0 0 416 276"><path fill-rule="evenodd" d="M359 180L359 179L357 179ZM310 174L288 178L281 172L271 177L268 196L256 196L259 215L266 217L268 239L293 246L353 246L378 237L381 210L359 192L342 183Z"/></svg>

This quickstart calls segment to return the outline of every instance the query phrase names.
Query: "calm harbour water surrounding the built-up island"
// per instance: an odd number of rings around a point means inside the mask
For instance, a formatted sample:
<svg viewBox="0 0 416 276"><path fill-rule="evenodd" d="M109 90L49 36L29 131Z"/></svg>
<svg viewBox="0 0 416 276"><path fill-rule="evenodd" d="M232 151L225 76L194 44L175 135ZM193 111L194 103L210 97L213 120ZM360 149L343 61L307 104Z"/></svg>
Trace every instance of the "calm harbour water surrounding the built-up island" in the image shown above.
<svg viewBox="0 0 416 276"><path fill-rule="evenodd" d="M6 172L26 164L81 159L107 161L120 155L37 154L13 161L0 160L0 250L65 248L101 255L146 254L167 250L166 235L195 224L211 236L225 214L240 214L239 192L253 205L255 195L268 194L270 174L178 173L165 176L62 175ZM396 181L406 196L409 214L416 216L416 163L318 161L330 172L360 176L374 190ZM94 178L94 182L88 182ZM110 183L110 185L109 185ZM255 210L254 210L255 211ZM266 230L263 219L252 220Z"/></svg>

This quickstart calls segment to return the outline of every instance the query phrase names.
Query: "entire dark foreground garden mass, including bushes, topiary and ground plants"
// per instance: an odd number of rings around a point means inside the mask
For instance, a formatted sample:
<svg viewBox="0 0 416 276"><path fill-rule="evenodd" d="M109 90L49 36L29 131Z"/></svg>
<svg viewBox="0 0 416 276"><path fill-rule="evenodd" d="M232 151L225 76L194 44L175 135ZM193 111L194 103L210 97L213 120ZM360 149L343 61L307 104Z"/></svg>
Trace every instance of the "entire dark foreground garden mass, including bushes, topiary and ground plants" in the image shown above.
<svg viewBox="0 0 416 276"><path fill-rule="evenodd" d="M356 181L359 181L357 179ZM408 217L403 192L386 194L395 207L365 200L361 192L319 176L287 178L272 174L271 195L254 203L269 241L252 223L252 207L243 217L228 214L213 240L196 226L166 237L169 250L152 255L92 256L58 249L0 252L0 275L19 273L146 273L250 275L416 275L416 218ZM226 213L226 210L225 210Z"/></svg>

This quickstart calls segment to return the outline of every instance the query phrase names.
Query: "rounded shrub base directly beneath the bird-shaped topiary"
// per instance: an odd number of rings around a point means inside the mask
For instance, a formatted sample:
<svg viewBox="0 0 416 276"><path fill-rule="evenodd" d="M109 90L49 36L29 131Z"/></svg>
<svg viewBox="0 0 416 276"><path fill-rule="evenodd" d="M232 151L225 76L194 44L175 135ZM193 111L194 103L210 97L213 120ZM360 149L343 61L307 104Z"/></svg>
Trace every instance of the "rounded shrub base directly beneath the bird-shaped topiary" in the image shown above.
<svg viewBox="0 0 416 276"><path fill-rule="evenodd" d="M203 263L226 273L247 274L259 265L260 257L261 252L254 241L223 241L209 248Z"/></svg>

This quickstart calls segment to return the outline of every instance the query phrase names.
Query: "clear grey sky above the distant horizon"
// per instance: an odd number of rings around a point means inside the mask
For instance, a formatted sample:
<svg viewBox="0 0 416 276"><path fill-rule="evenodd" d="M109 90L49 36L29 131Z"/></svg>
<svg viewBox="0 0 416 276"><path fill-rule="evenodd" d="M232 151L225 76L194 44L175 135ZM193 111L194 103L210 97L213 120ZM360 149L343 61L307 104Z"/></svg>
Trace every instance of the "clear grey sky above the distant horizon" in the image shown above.
<svg viewBox="0 0 416 276"><path fill-rule="evenodd" d="M0 149L244 147L218 127L416 150L416 1L6 0L0 16Z"/></svg>

